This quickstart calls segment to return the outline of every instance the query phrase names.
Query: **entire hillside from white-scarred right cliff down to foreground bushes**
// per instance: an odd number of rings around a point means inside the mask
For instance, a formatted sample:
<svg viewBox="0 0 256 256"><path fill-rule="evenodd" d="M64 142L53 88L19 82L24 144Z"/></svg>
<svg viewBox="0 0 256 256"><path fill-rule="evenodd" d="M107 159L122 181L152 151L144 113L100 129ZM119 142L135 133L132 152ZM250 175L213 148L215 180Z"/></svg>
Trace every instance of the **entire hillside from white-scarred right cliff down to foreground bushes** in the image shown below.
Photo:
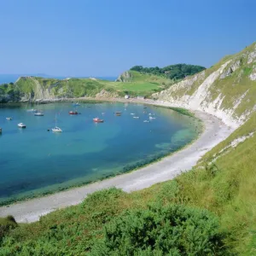
<svg viewBox="0 0 256 256"><path fill-rule="evenodd" d="M131 79L144 74L136 75ZM255 88L254 43L155 93L238 128L172 181L131 194L102 190L33 224L2 218L0 254L254 255Z"/></svg>

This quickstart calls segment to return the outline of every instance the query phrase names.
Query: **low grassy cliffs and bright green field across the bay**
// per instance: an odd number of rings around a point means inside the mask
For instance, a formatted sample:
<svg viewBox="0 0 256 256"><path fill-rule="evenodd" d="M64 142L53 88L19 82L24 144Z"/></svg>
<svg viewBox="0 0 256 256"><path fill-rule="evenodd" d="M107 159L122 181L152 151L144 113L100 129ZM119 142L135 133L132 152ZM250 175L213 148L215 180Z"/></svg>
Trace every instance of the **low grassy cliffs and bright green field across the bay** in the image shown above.
<svg viewBox="0 0 256 256"><path fill-rule="evenodd" d="M101 79L44 79L39 77L20 77L15 83L0 85L0 102L50 100L54 98L75 97L123 97L150 96L156 91L173 84L170 79L157 75L141 74L131 71L125 82Z"/></svg>

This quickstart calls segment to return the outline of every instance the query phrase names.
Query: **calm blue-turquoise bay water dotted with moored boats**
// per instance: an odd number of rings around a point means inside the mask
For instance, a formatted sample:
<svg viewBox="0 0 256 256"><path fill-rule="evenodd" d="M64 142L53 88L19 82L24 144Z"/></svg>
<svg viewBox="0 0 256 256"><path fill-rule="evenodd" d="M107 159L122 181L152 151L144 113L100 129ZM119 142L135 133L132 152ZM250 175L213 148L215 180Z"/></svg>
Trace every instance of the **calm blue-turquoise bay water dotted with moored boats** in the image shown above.
<svg viewBox="0 0 256 256"><path fill-rule="evenodd" d="M27 108L39 108L44 116L36 117ZM69 102L0 105L0 202L131 171L176 151L197 136L195 119L167 108L81 103L77 107L81 114L69 115L70 110L75 109ZM116 111L122 115L114 115ZM155 119L144 123L148 113ZM62 133L48 131L55 126L55 117ZM95 124L95 117L104 123ZM26 129L18 128L20 122Z"/></svg>

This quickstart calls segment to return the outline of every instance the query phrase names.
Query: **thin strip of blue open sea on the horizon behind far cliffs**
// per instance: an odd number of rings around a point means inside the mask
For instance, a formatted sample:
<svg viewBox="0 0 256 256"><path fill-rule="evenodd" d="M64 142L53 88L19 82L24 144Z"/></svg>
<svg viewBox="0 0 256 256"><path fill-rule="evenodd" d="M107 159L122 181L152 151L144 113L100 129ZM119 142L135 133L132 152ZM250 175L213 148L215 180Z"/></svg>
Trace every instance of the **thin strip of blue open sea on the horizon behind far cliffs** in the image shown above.
<svg viewBox="0 0 256 256"><path fill-rule="evenodd" d="M0 74L0 84L5 84L5 83L15 83L17 79L20 77L24 76L35 76L35 77L43 77L46 79L66 79L70 78L69 76L64 77L64 76L51 76L47 74ZM79 78L79 79L88 79L90 77L71 77L71 78ZM108 80L108 81L114 81L117 79L117 77L95 77L96 79L102 79L102 80Z"/></svg>

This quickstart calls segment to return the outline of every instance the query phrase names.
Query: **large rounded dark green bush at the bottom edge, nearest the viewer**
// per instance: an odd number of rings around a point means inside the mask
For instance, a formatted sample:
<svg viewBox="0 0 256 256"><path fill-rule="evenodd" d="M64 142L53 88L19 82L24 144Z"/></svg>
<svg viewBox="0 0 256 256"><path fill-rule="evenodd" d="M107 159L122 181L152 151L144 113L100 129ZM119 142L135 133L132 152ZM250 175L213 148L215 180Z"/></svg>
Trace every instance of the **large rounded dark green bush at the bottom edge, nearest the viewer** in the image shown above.
<svg viewBox="0 0 256 256"><path fill-rule="evenodd" d="M154 206L115 218L91 255L224 255L223 238L206 210Z"/></svg>

